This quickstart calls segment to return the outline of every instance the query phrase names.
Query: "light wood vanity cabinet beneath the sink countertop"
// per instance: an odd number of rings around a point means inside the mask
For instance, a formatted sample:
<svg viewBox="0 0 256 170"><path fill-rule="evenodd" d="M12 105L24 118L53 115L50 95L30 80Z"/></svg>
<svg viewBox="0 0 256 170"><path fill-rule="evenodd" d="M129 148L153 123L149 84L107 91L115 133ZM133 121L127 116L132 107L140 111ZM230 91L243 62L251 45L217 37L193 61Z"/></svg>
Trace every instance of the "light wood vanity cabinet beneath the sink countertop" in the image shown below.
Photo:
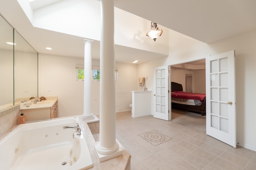
<svg viewBox="0 0 256 170"><path fill-rule="evenodd" d="M20 113L25 115L25 122L56 118L58 115L58 100L49 107L21 109Z"/></svg>

